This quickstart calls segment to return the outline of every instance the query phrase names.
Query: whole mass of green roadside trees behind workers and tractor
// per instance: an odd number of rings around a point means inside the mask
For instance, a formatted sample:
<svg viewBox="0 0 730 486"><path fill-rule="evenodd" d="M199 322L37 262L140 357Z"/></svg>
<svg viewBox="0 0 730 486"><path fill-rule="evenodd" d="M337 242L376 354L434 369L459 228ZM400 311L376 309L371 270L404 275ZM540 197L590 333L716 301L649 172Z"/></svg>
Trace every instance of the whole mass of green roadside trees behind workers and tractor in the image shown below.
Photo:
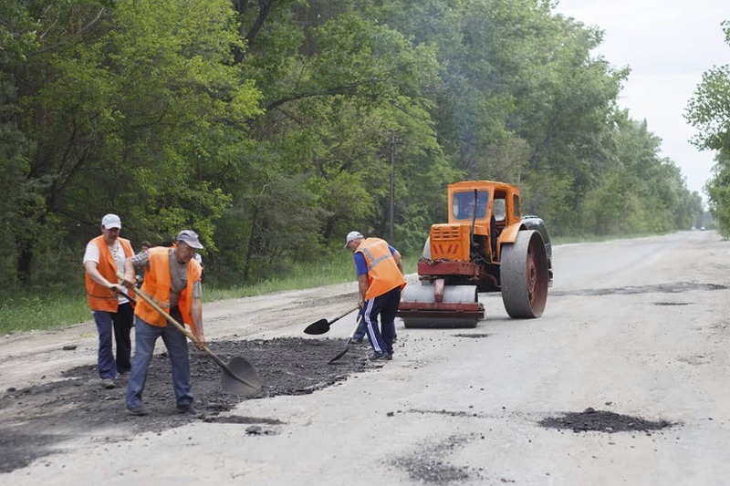
<svg viewBox="0 0 730 486"><path fill-rule="evenodd" d="M106 212L134 245L195 229L214 285L340 262L353 229L420 254L465 179L518 184L557 236L701 215L616 107L628 68L548 0L10 0L0 18L8 295L80 286ZM703 143L723 140L726 74L696 98Z"/></svg>

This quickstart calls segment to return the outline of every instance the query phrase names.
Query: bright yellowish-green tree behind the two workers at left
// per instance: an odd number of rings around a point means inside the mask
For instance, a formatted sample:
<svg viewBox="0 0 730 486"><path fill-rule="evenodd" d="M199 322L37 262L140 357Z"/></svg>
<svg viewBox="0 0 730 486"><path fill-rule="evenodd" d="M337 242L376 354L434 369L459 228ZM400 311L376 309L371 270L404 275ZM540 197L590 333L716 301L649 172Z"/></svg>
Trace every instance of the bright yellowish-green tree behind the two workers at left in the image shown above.
<svg viewBox="0 0 730 486"><path fill-rule="evenodd" d="M259 98L232 63L230 4L40 4L27 15L44 36L11 66L35 148L26 184L38 195L19 212L32 231L16 237L18 274L30 277L34 254L57 252L44 241L66 238L69 264L78 261L110 211L127 236L167 243L194 227L214 248L230 197L213 176L240 163L233 148L245 145Z"/></svg>

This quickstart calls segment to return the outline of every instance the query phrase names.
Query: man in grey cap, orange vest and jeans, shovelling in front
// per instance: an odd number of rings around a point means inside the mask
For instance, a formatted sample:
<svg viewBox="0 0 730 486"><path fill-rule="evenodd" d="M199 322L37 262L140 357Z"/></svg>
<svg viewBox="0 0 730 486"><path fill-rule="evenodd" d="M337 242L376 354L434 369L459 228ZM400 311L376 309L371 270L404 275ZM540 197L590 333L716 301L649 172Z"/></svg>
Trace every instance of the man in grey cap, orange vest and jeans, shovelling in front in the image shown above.
<svg viewBox="0 0 730 486"><path fill-rule="evenodd" d="M135 269L144 268L141 290L177 322L190 326L193 336L197 338L197 346L202 348L205 345L201 302L203 269L194 259L195 253L201 248L203 245L198 240L198 234L183 230L178 233L172 247L158 246L128 258L124 284L133 285ZM142 300L135 305L134 315L135 348L127 385L127 411L130 415L149 413L142 404L142 391L155 342L162 336L172 363L172 388L177 410L180 413L195 413L186 336L175 326L169 325L164 315Z"/></svg>

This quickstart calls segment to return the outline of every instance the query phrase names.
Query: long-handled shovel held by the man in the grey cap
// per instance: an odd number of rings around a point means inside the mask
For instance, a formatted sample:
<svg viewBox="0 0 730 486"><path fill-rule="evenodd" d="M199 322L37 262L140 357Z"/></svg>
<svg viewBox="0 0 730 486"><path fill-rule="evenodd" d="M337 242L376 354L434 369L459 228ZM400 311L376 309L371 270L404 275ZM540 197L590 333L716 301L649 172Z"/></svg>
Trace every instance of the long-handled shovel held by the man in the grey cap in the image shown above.
<svg viewBox="0 0 730 486"><path fill-rule="evenodd" d="M123 275L118 276L120 276L120 278L123 278ZM145 294L139 288L135 289L134 293L136 295L139 295L144 302L151 305L154 310L164 315L165 319L167 319L167 322L172 324L172 326L177 327L180 332L187 336L188 339L193 341L195 346L199 345L200 341L198 341L198 338L193 336L193 333L188 331L182 324L177 322L175 318L172 317L172 315L169 315L167 312L165 312L160 305L152 300L150 295ZM120 294L127 296L126 292L123 292L121 290ZM127 296L127 298L129 298L129 296ZM261 389L261 378L258 377L258 373L256 372L255 367L253 367L243 357L234 357L226 365L223 360L220 357L217 357L208 346L203 345L201 349L203 349L203 351L209 357L213 358L216 365L223 369L224 373L221 377L221 386L225 391L235 393L236 395L250 396L255 395Z"/></svg>

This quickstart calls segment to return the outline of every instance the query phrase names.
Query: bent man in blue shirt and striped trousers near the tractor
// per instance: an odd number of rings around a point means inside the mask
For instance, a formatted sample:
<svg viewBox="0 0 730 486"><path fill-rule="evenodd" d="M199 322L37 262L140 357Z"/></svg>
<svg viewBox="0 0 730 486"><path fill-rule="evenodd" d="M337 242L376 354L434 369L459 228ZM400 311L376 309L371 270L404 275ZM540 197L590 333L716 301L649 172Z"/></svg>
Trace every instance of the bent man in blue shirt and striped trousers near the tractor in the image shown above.
<svg viewBox="0 0 730 486"><path fill-rule="evenodd" d="M381 238L349 232L345 248L353 253L358 274L360 313L372 346L370 360L393 357L395 315L405 286L401 253ZM378 316L381 328L378 328Z"/></svg>

